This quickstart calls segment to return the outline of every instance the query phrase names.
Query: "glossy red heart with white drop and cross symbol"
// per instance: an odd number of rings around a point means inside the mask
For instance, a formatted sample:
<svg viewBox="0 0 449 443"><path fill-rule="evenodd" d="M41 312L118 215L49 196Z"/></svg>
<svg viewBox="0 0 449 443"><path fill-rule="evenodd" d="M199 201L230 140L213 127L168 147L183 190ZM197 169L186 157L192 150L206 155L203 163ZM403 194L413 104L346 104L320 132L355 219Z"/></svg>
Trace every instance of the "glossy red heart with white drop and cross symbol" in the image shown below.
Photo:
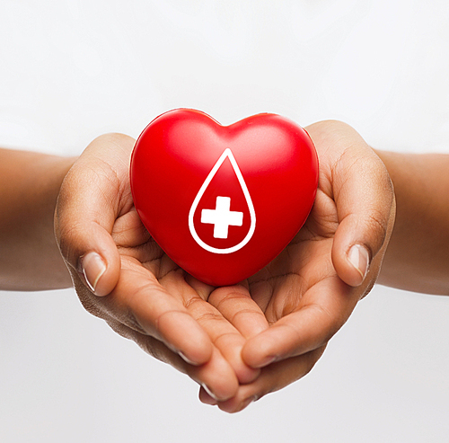
<svg viewBox="0 0 449 443"><path fill-rule="evenodd" d="M304 225L318 158L304 129L278 115L222 126L175 110L138 137L130 179L137 213L163 251L225 286L266 266Z"/></svg>

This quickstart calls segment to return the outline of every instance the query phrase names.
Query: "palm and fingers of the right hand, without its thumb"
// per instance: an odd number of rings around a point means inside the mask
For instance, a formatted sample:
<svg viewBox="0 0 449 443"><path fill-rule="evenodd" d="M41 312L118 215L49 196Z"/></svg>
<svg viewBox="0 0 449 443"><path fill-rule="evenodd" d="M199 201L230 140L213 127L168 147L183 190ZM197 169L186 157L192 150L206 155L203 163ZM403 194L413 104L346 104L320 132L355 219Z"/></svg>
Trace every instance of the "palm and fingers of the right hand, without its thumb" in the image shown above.
<svg viewBox="0 0 449 443"><path fill-rule="evenodd" d="M351 288L338 278L330 259L337 220L334 201L319 189L313 210L303 228L274 261L245 282L248 290L246 295L240 295L240 304L235 302L231 288L221 288L211 293L210 303L218 307L247 338L255 337L251 324L257 322L258 315L264 315L278 334L274 335L274 345L273 340L262 340L257 343L256 350L259 356L271 355L272 352L264 348L271 345L271 348L277 349L278 355L282 354L279 357L283 359L262 368L256 382L241 385L232 400L220 403L225 411L239 410L248 398L259 398L303 377L320 358L329 339L324 323L333 323L331 309L327 307L332 304L330 298L335 297L336 292L343 296L349 296L351 292ZM342 294L342 288L345 288L345 294ZM348 309L352 310L355 297L348 297L348 301ZM246 314L238 315L237 306ZM323 316L328 318L323 321ZM288 334L293 338L286 340ZM299 350L292 348L292 341L298 337L304 338ZM265 363L263 359L255 360L255 366L265 366ZM207 402L204 392L201 398Z"/></svg>

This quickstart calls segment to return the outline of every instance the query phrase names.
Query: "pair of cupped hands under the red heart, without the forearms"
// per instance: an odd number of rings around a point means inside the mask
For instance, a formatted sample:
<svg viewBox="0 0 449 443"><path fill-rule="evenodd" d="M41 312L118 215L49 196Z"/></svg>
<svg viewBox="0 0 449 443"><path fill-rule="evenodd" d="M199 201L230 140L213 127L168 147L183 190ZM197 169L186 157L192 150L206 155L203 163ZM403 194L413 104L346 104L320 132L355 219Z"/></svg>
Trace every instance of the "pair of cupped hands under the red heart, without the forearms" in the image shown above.
<svg viewBox="0 0 449 443"><path fill-rule="evenodd" d="M266 269L231 288L191 278L146 233L129 190L131 138L92 142L61 187L57 239L86 309L189 374L205 386L201 401L227 412L313 368L372 288L392 231L392 185L374 151L339 122L307 130L321 164L311 217ZM354 244L370 258L366 276L348 261ZM92 250L106 265L95 294L83 271Z"/></svg>

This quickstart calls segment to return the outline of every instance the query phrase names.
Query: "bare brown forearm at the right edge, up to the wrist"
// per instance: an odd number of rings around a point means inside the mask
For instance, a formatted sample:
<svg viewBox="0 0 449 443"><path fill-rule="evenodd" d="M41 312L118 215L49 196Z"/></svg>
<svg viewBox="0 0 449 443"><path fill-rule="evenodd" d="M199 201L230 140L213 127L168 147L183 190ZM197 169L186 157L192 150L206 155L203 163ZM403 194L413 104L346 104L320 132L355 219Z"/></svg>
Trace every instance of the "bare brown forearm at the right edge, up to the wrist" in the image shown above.
<svg viewBox="0 0 449 443"><path fill-rule="evenodd" d="M449 295L449 155L377 154L397 204L379 283Z"/></svg>

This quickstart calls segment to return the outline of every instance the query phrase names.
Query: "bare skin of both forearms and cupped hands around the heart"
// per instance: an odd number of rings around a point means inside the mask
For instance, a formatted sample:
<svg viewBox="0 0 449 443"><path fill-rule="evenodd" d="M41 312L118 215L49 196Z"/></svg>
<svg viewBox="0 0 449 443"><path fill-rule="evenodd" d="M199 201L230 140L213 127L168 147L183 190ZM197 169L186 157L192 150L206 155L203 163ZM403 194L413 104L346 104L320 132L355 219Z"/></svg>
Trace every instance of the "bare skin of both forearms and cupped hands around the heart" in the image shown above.
<svg viewBox="0 0 449 443"><path fill-rule="evenodd" d="M0 216L8 230L2 231L2 260L11 254L14 263L0 270L2 288L69 284L49 239L56 208L57 244L85 308L197 381L203 403L241 411L304 377L376 279L438 294L449 286L448 156L376 153L338 121L306 129L320 160L311 216L275 261L229 288L191 278L145 231L129 190L132 138L101 136L75 164L0 152L0 169L10 171L0 174L1 199L13 209ZM33 198L25 199L30 189ZM40 241L24 242L19 226ZM356 263L354 245L362 251ZM92 253L100 258L96 266ZM53 272L30 279L45 270L24 263L40 266L35 257L42 256Z"/></svg>

